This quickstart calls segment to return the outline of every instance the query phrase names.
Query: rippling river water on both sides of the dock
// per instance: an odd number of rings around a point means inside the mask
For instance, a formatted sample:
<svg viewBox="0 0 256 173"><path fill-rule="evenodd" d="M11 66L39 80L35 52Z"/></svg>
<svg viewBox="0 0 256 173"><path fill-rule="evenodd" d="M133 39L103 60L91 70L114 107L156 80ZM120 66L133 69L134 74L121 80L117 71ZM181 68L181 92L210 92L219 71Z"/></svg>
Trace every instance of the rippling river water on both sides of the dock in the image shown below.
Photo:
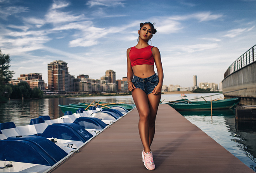
<svg viewBox="0 0 256 173"><path fill-rule="evenodd" d="M187 99L203 101L201 97L212 96L213 99L223 98L222 94L209 93L186 94ZM180 94L163 94L161 100L175 101L180 99ZM205 97L210 100L211 97ZM16 126L28 125L30 119L41 115L49 115L56 119L64 115L58 105L69 103L95 102L125 102L133 104L129 96L100 96L100 97L73 97L73 98L45 98L40 100L18 100L0 103L0 123L14 122ZM206 134L221 144L230 153L239 158L243 163L256 172L256 122L235 120L235 112L232 109L211 111L179 111L186 119L202 129Z"/></svg>

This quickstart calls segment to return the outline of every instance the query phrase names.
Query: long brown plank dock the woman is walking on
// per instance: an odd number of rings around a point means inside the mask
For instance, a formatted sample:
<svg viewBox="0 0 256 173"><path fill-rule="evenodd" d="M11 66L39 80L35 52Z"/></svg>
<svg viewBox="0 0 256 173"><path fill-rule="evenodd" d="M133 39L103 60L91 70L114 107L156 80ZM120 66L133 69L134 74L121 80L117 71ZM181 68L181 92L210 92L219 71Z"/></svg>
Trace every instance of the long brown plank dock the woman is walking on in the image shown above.
<svg viewBox="0 0 256 173"><path fill-rule="evenodd" d="M132 110L49 172L148 173L138 119ZM159 105L151 150L154 173L254 173L167 104Z"/></svg>

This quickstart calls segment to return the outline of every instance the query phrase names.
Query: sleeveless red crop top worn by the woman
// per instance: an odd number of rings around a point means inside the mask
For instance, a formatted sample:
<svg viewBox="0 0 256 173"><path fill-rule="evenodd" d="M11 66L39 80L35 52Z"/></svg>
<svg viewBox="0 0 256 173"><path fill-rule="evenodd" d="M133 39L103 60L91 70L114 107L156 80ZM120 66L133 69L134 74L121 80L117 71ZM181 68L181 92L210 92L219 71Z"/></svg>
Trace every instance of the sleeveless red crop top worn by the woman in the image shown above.
<svg viewBox="0 0 256 173"><path fill-rule="evenodd" d="M141 49L137 49L135 46L131 47L129 53L131 67L142 64L148 64L153 66L155 59L151 51L152 47L154 46L147 46Z"/></svg>

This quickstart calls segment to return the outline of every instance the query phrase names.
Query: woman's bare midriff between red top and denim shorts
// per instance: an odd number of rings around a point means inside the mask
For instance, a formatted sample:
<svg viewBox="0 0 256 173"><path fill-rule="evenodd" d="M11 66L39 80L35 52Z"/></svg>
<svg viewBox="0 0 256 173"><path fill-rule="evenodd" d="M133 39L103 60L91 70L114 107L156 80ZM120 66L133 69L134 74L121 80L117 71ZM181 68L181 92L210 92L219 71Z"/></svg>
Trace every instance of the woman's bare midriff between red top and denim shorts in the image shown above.
<svg viewBox="0 0 256 173"><path fill-rule="evenodd" d="M139 78L142 78L142 79L148 78L156 74L154 71L154 66L147 65L147 64L133 66L132 71L135 76L138 76Z"/></svg>

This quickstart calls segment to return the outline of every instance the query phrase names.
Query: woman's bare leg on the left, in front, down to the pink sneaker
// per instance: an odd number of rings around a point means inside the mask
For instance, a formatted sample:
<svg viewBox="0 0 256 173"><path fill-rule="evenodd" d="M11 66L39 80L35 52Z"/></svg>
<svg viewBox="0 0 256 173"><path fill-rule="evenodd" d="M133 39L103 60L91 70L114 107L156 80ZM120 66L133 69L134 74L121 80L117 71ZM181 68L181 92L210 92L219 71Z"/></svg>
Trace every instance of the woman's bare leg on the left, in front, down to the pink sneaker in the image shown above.
<svg viewBox="0 0 256 173"><path fill-rule="evenodd" d="M149 146L149 119L150 119L150 109L148 103L147 94L139 89L136 88L131 92L133 101L137 107L138 114L140 116L138 122L138 129L140 134L140 139L142 145L144 147L145 153L151 151Z"/></svg>

